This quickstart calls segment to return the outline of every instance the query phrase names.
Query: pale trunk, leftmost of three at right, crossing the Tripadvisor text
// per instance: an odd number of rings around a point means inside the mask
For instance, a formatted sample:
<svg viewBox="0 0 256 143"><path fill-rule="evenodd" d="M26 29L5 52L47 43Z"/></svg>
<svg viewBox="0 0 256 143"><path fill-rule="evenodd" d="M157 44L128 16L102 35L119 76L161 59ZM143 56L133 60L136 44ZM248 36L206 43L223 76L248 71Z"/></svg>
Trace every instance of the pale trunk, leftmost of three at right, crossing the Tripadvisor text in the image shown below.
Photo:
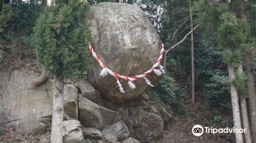
<svg viewBox="0 0 256 143"><path fill-rule="evenodd" d="M228 63L228 76L229 76L229 85L230 85L230 93L231 93L234 128L241 129L240 111L239 111L239 103L238 103L238 91L237 91L237 87L232 83L232 80L235 78L235 76L234 76L234 69L231 63ZM243 142L242 133L234 133L234 134L236 135L236 143Z"/></svg>

